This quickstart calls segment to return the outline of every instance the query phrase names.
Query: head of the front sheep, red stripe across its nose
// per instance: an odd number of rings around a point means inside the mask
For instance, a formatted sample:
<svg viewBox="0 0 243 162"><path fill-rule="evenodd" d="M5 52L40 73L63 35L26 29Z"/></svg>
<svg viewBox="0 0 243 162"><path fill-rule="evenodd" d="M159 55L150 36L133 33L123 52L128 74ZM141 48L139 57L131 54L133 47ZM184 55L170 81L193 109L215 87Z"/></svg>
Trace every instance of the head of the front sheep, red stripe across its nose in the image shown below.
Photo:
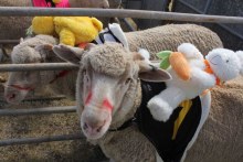
<svg viewBox="0 0 243 162"><path fill-rule="evenodd" d="M149 65L139 53L131 53L118 43L89 45L85 51L57 45L53 51L80 66L77 112L88 139L103 137L110 123L131 111L140 90L139 77L158 82L170 79L167 72Z"/></svg>

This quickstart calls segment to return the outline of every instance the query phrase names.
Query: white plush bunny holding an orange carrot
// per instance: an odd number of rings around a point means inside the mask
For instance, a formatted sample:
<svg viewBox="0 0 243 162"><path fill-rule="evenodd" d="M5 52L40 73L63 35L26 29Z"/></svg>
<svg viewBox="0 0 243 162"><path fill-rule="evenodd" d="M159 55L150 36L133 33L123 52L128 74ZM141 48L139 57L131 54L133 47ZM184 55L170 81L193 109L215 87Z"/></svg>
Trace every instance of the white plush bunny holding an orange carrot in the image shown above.
<svg viewBox="0 0 243 162"><path fill-rule="evenodd" d="M156 120L167 121L181 101L192 99L207 89L243 75L243 51L233 52L215 48L203 58L199 50L183 43L178 52L158 54L165 58L160 64L168 67L172 79L166 82L167 88L148 101L148 108Z"/></svg>

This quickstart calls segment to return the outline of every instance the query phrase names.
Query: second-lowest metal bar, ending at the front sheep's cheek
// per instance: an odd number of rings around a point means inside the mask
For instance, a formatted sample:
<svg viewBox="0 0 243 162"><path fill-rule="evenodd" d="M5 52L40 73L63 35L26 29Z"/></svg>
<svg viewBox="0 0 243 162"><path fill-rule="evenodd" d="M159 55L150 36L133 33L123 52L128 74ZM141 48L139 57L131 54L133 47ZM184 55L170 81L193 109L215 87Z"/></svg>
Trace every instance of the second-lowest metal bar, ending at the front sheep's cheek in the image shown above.
<svg viewBox="0 0 243 162"><path fill-rule="evenodd" d="M49 114L67 114L75 112L75 106L63 107L45 107L31 109L0 109L0 117L2 116L28 116L28 115L49 115Z"/></svg>

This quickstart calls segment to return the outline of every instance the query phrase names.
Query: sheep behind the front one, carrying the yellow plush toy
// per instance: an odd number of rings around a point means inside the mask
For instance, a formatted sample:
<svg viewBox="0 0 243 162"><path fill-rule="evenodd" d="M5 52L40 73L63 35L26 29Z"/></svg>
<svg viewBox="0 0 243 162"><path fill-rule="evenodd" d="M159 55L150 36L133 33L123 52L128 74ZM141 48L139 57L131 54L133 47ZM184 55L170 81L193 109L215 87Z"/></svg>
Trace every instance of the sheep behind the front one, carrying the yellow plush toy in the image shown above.
<svg viewBox="0 0 243 162"><path fill-rule="evenodd" d="M212 31L200 26L200 25L194 25L194 24L169 24L169 25L162 25L162 26L157 26L157 28L152 28L152 29L148 29L148 30L144 30L144 31L138 31L138 32L128 32L125 33L128 44L129 44L129 48L130 51L137 51L139 47L144 47L147 48L150 53L151 53L151 60L156 60L156 57L154 56L155 53L161 51L161 50L167 50L167 48L176 48L179 44L186 42L190 42L192 44L198 44L199 48L207 53L209 52L209 50L214 48L214 47L220 47L222 46L222 42L220 41L219 36L213 33ZM12 63L14 64L24 64L24 63L38 63L38 61L35 60L35 57L40 57L40 54L36 54L38 56L33 56L33 51L35 48L35 45L33 42L35 39L33 37L33 40L27 40L28 43L20 43L19 45L17 45L12 52ZM204 41L203 41L204 40ZM207 41L205 41L207 40ZM207 42L207 43L204 43ZM32 44L32 45L30 45ZM50 44L49 42L43 42L41 44ZM53 45L51 43L51 45ZM29 50L30 46L33 46L32 50ZM47 45L49 46L49 45ZM25 51L24 48L28 47L27 52L21 52L21 51ZM42 45L42 48L44 47L44 45ZM45 47L44 47L45 48ZM39 47L39 50L41 50ZM35 53L34 53L35 54ZM24 55L24 57L27 57L30 61L24 61L24 60L18 60L14 61L13 57L22 57L22 55ZM51 53L51 55L53 55ZM49 60L49 57L46 57L46 60L44 62L53 62L53 60ZM50 72L51 73L51 72ZM59 74L60 72L52 72L55 74ZM17 75L18 74L18 75ZM22 74L22 75L21 75ZM29 72L29 74L31 74L31 72ZM42 74L43 75L43 74ZM49 78L50 74L46 73L46 76L43 76L42 78ZM74 74L75 76L75 74ZM71 74L68 75L68 77L71 77ZM53 77L50 77L53 78ZM74 98L74 89L75 87L68 87L72 90L67 90L67 89L63 89L63 87L66 87L65 85L74 85L75 82L70 82L65 83L65 76L61 77L57 79L57 82L52 84L52 87L55 89L55 91L59 91L61 94L67 91L66 95L70 96L70 98ZM72 77L74 78L74 77ZM24 79L24 84L21 84L19 80ZM64 79L64 80L63 80ZM40 85L43 85L41 83L35 83L35 85L33 85L33 80L34 79L29 79L24 76L24 73L10 73L10 77L8 78L7 82L7 86L6 86L6 90L4 90L4 97L7 99L7 101L9 102L19 102L22 99L24 99L24 97L27 96L28 90L20 90L18 88L13 88L9 85L19 85L21 87L25 87L25 86L31 86L32 89L34 89L35 87L40 87ZM44 80L40 80L39 82L44 83L45 85L47 85L47 82ZM62 82L63 80L63 82ZM60 83L61 85L55 86L56 83ZM11 89L11 90L10 90ZM21 91L21 93L20 93ZM73 91L73 93L72 93Z"/></svg>

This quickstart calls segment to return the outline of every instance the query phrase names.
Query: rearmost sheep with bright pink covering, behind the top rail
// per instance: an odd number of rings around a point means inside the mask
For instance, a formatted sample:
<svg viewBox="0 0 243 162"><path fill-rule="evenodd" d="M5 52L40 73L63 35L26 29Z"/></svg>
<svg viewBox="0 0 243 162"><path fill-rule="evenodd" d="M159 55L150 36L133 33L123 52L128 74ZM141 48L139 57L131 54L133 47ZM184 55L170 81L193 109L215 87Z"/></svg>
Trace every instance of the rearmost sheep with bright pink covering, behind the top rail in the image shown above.
<svg viewBox="0 0 243 162"><path fill-rule="evenodd" d="M113 0L110 0L113 1ZM107 0L70 0L71 8L109 8ZM0 7L32 7L32 0L1 0ZM115 6L114 6L115 8ZM0 17L1 40L18 40L25 35L31 17Z"/></svg>

